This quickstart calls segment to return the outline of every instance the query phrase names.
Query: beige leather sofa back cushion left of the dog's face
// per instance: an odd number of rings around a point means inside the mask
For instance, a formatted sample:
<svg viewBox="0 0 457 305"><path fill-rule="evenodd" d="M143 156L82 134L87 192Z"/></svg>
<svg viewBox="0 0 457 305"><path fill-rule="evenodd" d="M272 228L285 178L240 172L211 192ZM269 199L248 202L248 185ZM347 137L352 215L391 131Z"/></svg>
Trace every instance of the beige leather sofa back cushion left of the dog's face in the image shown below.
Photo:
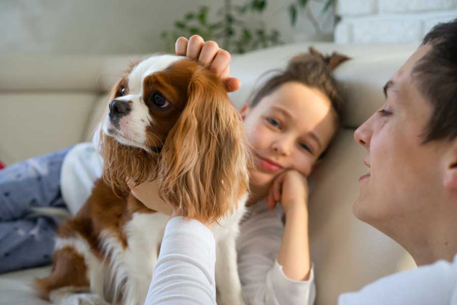
<svg viewBox="0 0 457 305"><path fill-rule="evenodd" d="M6 165L81 141L96 101L88 93L0 94L0 157Z"/></svg>

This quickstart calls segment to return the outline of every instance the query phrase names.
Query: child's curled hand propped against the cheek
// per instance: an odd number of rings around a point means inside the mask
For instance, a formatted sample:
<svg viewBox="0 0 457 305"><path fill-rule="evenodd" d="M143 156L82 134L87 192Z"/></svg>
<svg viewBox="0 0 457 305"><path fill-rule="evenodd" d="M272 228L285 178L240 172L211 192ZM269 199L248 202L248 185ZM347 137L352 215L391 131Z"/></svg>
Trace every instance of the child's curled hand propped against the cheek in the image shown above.
<svg viewBox="0 0 457 305"><path fill-rule="evenodd" d="M308 180L297 170L287 170L273 181L266 197L268 208L273 210L279 202L285 214L297 208L307 208Z"/></svg>

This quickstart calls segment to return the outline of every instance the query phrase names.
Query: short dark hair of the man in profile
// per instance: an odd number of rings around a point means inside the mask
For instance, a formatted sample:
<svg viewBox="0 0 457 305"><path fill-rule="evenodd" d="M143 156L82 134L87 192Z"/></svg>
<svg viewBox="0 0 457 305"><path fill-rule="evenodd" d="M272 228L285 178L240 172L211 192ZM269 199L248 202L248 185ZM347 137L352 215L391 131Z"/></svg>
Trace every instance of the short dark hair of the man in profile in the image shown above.
<svg viewBox="0 0 457 305"><path fill-rule="evenodd" d="M439 23L425 36L422 46L431 50L413 69L417 88L433 104L423 143L457 138L457 19Z"/></svg>

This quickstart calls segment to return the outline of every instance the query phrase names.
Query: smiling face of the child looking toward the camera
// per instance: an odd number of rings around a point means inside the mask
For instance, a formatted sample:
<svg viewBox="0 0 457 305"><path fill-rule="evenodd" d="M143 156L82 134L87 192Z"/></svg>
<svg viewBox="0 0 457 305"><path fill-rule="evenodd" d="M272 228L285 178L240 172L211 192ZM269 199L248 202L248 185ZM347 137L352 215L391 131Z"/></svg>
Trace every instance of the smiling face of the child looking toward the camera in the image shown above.
<svg viewBox="0 0 457 305"><path fill-rule="evenodd" d="M282 84L240 112L255 156L253 186L267 186L287 169L309 176L336 130L329 98L299 82Z"/></svg>

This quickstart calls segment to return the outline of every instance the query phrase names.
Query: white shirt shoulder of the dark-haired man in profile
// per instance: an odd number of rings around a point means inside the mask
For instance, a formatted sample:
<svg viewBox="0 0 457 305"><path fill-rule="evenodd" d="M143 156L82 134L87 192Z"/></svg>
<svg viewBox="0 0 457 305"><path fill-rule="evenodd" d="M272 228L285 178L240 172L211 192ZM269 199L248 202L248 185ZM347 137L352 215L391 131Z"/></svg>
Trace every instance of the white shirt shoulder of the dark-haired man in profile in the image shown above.
<svg viewBox="0 0 457 305"><path fill-rule="evenodd" d="M382 278L357 292L344 293L339 305L456 305L457 255Z"/></svg>

